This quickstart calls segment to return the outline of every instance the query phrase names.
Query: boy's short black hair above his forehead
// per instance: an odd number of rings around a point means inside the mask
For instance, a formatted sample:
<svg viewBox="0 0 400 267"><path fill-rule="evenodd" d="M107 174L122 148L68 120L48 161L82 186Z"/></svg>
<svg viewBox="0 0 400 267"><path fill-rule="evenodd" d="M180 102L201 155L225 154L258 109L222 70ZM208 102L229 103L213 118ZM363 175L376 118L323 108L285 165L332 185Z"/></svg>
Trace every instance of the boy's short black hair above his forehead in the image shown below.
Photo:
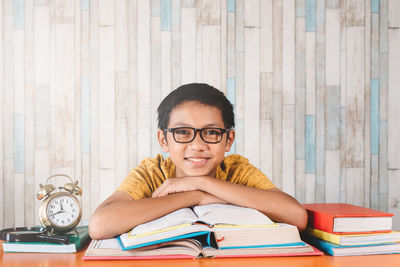
<svg viewBox="0 0 400 267"><path fill-rule="evenodd" d="M167 95L158 106L158 128L165 130L168 127L171 111L186 101L198 101L213 106L221 111L226 129L235 127L235 115L231 102L224 93L205 83L185 84Z"/></svg>

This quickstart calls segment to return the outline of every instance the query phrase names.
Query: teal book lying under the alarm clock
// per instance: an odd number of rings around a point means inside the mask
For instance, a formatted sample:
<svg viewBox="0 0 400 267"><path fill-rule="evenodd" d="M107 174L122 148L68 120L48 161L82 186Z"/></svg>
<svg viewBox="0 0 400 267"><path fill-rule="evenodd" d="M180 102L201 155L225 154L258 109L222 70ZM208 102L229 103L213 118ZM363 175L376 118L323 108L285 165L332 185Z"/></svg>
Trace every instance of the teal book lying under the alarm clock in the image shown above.
<svg viewBox="0 0 400 267"><path fill-rule="evenodd" d="M90 241L88 226L77 227L79 235L71 231L65 235L69 244L46 242L4 242L4 252L31 252L31 253L75 253Z"/></svg>

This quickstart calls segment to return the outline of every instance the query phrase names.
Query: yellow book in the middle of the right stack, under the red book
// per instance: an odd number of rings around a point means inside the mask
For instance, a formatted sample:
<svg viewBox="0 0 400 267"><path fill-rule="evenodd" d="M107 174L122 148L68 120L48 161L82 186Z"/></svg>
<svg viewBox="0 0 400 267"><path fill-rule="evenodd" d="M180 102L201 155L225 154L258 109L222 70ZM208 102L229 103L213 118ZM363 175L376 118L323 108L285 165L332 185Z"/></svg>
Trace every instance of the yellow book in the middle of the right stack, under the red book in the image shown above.
<svg viewBox="0 0 400 267"><path fill-rule="evenodd" d="M314 228L307 228L305 233L341 246L400 242L399 231L392 231L388 233L338 235L338 234L331 234Z"/></svg>

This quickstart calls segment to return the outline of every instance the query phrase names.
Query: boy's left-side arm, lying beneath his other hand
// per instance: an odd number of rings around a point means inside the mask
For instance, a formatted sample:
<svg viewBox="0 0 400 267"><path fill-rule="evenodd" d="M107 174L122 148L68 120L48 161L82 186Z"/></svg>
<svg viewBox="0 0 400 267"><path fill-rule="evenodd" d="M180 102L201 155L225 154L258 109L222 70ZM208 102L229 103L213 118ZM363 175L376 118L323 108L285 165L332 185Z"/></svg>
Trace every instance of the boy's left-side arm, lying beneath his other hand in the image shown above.
<svg viewBox="0 0 400 267"><path fill-rule="evenodd" d="M175 210L194 205L226 203L202 192L188 191L158 198L134 200L125 192L114 192L89 219L89 234L93 239L112 238Z"/></svg>

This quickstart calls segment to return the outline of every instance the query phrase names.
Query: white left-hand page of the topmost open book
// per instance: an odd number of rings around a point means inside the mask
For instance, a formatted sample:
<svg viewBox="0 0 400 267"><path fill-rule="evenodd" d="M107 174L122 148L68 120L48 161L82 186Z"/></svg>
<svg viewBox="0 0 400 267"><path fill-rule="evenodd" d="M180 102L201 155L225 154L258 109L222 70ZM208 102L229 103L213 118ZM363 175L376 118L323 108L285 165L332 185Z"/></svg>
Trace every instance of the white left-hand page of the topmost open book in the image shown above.
<svg viewBox="0 0 400 267"><path fill-rule="evenodd" d="M130 232L130 237L171 229L180 225L191 224L195 221L197 221L197 217L193 211L189 208L183 208L153 221L136 226Z"/></svg>

